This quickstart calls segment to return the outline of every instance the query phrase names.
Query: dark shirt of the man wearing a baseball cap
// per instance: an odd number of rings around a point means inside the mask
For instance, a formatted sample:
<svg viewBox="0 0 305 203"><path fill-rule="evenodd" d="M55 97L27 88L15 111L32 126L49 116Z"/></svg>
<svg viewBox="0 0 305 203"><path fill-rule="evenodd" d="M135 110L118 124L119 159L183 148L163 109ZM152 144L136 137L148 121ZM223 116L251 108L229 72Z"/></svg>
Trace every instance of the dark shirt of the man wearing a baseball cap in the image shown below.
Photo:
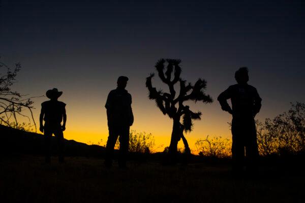
<svg viewBox="0 0 305 203"><path fill-rule="evenodd" d="M114 89L108 94L105 108L109 125L130 126L133 124L131 95L125 89Z"/></svg>

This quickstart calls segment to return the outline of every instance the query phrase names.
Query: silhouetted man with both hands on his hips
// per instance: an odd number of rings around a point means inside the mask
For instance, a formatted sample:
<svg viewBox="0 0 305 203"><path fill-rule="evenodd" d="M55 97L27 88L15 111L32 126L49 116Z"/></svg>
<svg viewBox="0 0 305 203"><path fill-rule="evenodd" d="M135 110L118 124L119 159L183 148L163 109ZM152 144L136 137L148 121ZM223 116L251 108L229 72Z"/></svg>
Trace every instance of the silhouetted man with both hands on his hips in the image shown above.
<svg viewBox="0 0 305 203"><path fill-rule="evenodd" d="M231 85L218 96L222 110L232 114L232 160L233 173L243 170L246 149L247 171L257 170L259 156L254 117L261 109L261 98L255 87L248 85L248 68L241 67L235 72L237 84ZM231 99L232 108L227 103Z"/></svg>

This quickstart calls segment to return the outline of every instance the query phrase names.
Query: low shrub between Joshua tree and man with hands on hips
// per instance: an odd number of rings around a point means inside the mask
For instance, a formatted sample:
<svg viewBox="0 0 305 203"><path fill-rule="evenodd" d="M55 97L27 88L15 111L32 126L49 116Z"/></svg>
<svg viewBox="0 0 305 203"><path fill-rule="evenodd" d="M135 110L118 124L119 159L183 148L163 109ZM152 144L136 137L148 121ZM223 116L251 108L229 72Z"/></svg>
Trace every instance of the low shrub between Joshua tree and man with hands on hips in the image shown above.
<svg viewBox="0 0 305 203"><path fill-rule="evenodd" d="M206 136L205 139L197 140L195 146L200 156L226 158L231 156L231 145L230 139L222 137L209 138Z"/></svg>

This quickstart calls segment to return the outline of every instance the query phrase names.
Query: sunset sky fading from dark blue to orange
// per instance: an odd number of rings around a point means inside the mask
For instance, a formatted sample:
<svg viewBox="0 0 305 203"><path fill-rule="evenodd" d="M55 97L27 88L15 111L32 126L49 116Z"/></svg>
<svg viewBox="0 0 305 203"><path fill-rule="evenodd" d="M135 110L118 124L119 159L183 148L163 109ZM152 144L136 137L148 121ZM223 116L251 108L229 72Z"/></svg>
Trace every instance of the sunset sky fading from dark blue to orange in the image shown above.
<svg viewBox="0 0 305 203"><path fill-rule="evenodd" d="M135 117L131 129L152 133L155 148L163 145L158 151L168 146L172 121L145 87L162 57L180 58L181 77L205 79L214 98L209 105L190 105L202 112L186 134L193 149L207 135L231 137L231 117L217 96L235 83L238 67L249 67L249 84L263 99L258 119L305 101L304 1L0 2L0 60L22 65L13 89L29 96L53 87L63 91L68 140L107 141L106 97L125 75ZM158 77L153 84L164 87ZM34 99L36 122L46 99Z"/></svg>

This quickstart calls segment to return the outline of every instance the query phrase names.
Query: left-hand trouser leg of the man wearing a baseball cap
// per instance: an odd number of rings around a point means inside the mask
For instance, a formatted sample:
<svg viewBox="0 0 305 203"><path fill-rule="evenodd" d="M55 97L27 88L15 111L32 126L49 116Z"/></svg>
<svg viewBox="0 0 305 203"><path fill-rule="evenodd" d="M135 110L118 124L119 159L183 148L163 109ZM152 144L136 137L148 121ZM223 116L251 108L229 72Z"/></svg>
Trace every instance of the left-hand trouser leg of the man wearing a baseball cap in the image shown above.
<svg viewBox="0 0 305 203"><path fill-rule="evenodd" d="M112 165L114 146L118 137L117 128L108 127L109 136L106 144L106 155L105 155L105 165L110 167Z"/></svg>

